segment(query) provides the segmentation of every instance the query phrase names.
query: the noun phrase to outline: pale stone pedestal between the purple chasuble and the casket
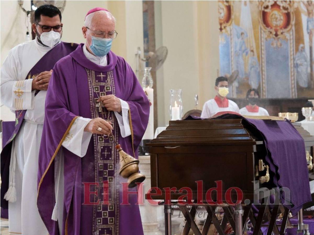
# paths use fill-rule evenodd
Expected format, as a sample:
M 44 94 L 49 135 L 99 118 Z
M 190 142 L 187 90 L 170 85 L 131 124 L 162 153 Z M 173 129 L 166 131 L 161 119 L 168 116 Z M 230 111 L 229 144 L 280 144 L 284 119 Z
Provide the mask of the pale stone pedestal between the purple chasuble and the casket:
M 143 192 L 146 194 L 147 191 L 151 188 L 150 184 L 150 156 L 138 156 L 139 159 L 139 170 L 141 174 L 146 176 L 143 185 Z M 145 197 L 145 195 L 143 195 Z M 152 206 L 148 201 L 144 200 L 145 205 L 140 205 L 139 209 L 141 212 L 142 224 L 144 235 L 161 235 L 161 232 L 158 230 L 158 217 L 157 217 L 157 207 Z

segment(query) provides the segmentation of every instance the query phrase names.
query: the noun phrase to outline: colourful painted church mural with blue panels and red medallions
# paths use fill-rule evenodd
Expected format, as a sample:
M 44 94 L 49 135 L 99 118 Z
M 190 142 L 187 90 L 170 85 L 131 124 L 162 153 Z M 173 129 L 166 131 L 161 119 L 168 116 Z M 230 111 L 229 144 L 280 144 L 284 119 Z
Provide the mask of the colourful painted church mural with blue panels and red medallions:
M 313 97 L 314 1 L 219 1 L 220 76 L 229 97 Z

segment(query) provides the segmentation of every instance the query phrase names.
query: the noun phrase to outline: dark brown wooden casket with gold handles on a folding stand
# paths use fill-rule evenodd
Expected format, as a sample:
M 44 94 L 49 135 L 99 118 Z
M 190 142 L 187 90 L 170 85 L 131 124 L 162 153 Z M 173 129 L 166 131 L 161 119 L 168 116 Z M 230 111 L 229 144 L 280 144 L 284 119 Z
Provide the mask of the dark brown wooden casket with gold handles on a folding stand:
M 217 188 L 216 181 L 222 182 L 222 195 L 232 188 L 240 188 L 243 200 L 254 200 L 254 191 L 260 187 L 276 187 L 272 172 L 269 171 L 267 179 L 262 137 L 245 123 L 241 118 L 170 121 L 166 130 L 148 144 L 151 186 L 161 190 L 159 194 L 151 194 L 151 198 L 167 199 L 165 189 L 168 188 L 173 189 L 168 199 L 178 200 L 187 194 L 179 190 L 188 187 L 192 190 L 192 199 L 197 200 L 200 185 L 196 181 L 202 181 L 203 198 L 208 189 Z M 314 137 L 299 123 L 294 125 L 313 156 Z M 311 178 L 313 170 L 309 174 Z M 236 192 L 232 192 L 236 197 Z M 211 196 L 215 200 L 217 191 Z

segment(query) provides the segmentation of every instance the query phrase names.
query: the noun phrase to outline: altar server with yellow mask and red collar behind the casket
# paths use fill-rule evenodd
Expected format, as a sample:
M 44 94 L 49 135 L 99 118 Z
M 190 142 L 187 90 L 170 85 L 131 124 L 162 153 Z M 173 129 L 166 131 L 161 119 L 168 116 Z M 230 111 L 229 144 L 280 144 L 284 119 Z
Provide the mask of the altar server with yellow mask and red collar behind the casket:
M 229 93 L 228 79 L 226 77 L 216 78 L 215 90 L 218 94 L 214 99 L 205 102 L 201 118 L 210 118 L 222 111 L 239 112 L 238 105 L 226 97 Z

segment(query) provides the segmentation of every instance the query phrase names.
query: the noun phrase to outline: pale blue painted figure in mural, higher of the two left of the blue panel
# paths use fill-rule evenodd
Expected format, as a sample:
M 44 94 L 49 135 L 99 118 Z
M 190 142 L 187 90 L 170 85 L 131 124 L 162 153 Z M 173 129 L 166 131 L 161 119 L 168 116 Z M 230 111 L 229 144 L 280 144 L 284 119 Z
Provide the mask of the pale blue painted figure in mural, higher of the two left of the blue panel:
M 244 60 L 243 55 L 248 54 L 248 49 L 246 48 L 245 44 L 245 33 L 242 31 L 240 37 L 237 35 L 238 42 L 236 44 L 236 51 L 235 51 L 235 67 L 236 70 L 239 70 L 238 82 L 242 81 L 245 77 L 245 70 L 244 70 Z M 238 85 L 237 85 L 238 86 Z

